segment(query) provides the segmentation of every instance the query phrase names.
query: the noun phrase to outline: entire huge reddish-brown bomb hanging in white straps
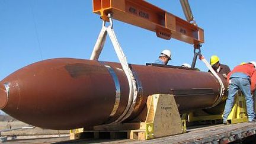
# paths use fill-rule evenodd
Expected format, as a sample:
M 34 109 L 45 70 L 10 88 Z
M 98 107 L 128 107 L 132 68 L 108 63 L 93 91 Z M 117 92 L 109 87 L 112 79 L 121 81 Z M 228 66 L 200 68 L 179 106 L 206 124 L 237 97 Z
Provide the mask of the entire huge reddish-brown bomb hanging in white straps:
M 143 121 L 152 94 L 174 94 L 180 113 L 219 103 L 220 84 L 208 72 L 130 65 L 138 95 L 126 121 Z M 222 79 L 225 87 L 226 80 Z M 49 59 L 25 66 L 0 82 L 0 108 L 25 123 L 47 129 L 108 124 L 124 112 L 129 84 L 120 63 Z

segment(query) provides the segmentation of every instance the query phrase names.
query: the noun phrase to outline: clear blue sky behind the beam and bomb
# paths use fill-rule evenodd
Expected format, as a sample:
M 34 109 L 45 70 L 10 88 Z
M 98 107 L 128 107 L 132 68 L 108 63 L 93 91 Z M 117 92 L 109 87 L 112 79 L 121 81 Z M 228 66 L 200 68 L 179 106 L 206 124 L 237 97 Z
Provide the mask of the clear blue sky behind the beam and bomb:
M 178 0 L 149 1 L 178 17 L 184 14 Z M 189 1 L 197 24 L 204 29 L 201 48 L 207 60 L 218 55 L 231 69 L 255 60 L 256 1 Z M 88 0 L 0 0 L 0 79 L 44 59 L 89 59 L 101 29 L 99 15 Z M 191 63 L 193 46 L 175 39 L 114 21 L 114 30 L 129 63 L 154 62 L 163 49 L 172 51 L 169 65 Z M 118 62 L 107 39 L 100 60 Z M 206 71 L 200 61 L 197 68 Z

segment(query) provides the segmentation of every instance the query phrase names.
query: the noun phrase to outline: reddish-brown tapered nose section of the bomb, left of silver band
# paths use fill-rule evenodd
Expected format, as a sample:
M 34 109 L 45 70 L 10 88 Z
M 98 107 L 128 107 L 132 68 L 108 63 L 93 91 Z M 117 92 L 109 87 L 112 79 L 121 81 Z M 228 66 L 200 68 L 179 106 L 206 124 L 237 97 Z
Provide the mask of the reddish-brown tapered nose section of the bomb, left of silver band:
M 46 129 L 103 124 L 110 119 L 115 98 L 113 78 L 97 61 L 44 60 L 0 81 L 0 109 Z

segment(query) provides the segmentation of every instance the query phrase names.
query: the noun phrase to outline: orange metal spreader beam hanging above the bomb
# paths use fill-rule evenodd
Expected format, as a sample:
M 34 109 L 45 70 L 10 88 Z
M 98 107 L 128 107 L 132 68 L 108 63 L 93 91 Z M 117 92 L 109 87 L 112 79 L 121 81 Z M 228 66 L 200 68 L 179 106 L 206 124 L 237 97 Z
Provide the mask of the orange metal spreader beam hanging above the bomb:
M 204 43 L 202 28 L 143 0 L 93 0 L 93 12 L 105 21 L 111 13 L 114 19 L 151 30 L 162 39 Z

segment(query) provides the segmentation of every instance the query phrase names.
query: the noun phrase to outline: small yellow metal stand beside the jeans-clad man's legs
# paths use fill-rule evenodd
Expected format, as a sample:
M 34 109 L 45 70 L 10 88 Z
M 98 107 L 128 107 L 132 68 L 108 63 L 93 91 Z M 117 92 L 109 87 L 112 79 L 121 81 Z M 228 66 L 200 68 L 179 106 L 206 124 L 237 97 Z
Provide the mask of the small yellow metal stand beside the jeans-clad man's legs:
M 228 116 L 227 124 L 242 123 L 248 121 L 245 97 L 242 92 L 238 92 L 231 113 Z

